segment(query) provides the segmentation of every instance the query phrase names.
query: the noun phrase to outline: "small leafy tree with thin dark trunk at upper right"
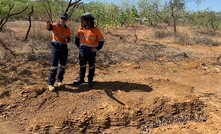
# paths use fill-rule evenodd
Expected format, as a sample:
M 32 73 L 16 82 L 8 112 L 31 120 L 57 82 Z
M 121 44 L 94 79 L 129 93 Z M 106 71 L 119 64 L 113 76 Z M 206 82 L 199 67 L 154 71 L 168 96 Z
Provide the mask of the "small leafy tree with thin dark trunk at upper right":
M 186 17 L 186 3 L 190 1 L 195 1 L 197 4 L 201 2 L 201 0 L 168 0 L 163 4 L 160 0 L 140 0 L 138 3 L 141 15 L 147 17 L 151 25 L 164 22 L 173 26 L 173 31 L 176 33 L 177 23 Z

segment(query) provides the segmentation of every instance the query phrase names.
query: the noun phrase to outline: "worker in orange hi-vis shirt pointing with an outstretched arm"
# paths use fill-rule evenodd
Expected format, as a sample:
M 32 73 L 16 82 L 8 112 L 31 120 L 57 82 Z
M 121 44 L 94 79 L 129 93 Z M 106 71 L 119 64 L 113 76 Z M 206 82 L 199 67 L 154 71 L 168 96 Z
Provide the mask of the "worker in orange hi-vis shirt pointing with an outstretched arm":
M 64 79 L 65 66 L 68 58 L 67 43 L 71 40 L 71 31 L 67 27 L 68 14 L 61 13 L 59 22 L 51 24 L 46 21 L 46 29 L 52 32 L 51 41 L 51 70 L 48 80 L 48 88 L 54 91 L 57 76 L 58 86 L 62 86 Z M 58 74 L 57 74 L 58 73 Z

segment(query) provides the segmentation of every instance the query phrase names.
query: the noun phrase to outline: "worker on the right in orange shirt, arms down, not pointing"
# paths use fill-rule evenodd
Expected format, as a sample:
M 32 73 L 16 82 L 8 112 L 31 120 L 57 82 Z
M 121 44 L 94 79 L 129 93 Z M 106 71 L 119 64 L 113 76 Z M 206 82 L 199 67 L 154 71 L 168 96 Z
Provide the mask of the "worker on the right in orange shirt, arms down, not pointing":
M 77 31 L 75 44 L 79 48 L 80 70 L 78 80 L 74 85 L 85 83 L 86 65 L 88 63 L 88 86 L 94 85 L 96 52 L 104 44 L 104 37 L 101 31 L 94 25 L 94 17 L 90 13 L 85 13 L 81 17 L 81 27 Z

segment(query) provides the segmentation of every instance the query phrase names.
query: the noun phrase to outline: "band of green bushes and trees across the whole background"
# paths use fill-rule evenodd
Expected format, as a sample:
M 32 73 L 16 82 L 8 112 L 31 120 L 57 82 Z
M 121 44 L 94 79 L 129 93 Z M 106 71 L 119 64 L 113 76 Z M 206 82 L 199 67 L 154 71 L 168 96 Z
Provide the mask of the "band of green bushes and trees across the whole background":
M 121 4 L 105 2 L 90 2 L 85 4 L 85 11 L 91 12 L 96 24 L 100 27 L 130 26 L 137 18 L 146 18 L 150 26 L 161 24 L 194 25 L 209 29 L 220 28 L 221 13 L 209 10 L 190 12 L 186 9 L 186 2 L 195 1 L 197 4 L 201 0 L 121 0 Z M 133 2 L 133 3 L 131 3 Z M 137 2 L 137 3 L 136 3 Z M 48 19 L 48 14 L 40 1 L 31 0 L 0 0 L 0 19 L 5 17 L 9 10 L 9 5 L 15 4 L 11 13 L 18 12 L 27 4 L 34 6 L 33 20 Z M 66 0 L 50 0 L 52 18 L 57 20 L 68 4 Z M 22 14 L 13 16 L 10 19 L 27 20 L 30 8 Z M 83 8 L 74 12 L 71 20 L 77 20 L 84 13 Z

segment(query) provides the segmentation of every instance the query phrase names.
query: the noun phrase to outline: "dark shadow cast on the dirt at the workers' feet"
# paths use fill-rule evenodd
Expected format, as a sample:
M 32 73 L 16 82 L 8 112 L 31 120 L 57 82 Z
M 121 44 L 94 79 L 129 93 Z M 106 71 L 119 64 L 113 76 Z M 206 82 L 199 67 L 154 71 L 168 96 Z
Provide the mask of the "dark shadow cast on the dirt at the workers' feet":
M 58 89 L 58 92 L 71 92 L 71 93 L 80 93 L 86 92 L 89 90 L 104 90 L 104 92 L 118 102 L 119 104 L 125 105 L 123 102 L 116 99 L 113 95 L 113 91 L 137 91 L 137 92 L 151 92 L 153 89 L 145 84 L 130 83 L 130 82 L 121 82 L 121 81 L 109 81 L 109 82 L 94 82 L 95 85 L 90 88 L 87 86 L 87 83 L 75 86 L 73 84 L 66 84 L 63 88 Z

